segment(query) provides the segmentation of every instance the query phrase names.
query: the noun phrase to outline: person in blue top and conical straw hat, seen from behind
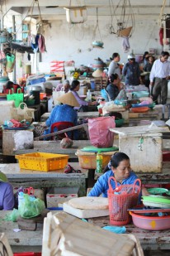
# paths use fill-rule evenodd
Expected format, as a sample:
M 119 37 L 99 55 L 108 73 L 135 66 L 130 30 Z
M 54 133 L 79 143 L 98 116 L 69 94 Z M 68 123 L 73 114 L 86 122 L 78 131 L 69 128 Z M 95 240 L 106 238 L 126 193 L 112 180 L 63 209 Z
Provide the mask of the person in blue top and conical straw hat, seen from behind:
M 78 101 L 75 99 L 71 92 L 62 95 L 57 99 L 61 104 L 56 105 L 52 110 L 50 117 L 46 120 L 45 126 L 48 129 L 45 130 L 45 134 L 51 133 L 51 125 L 56 122 L 71 122 L 74 126 L 78 125 L 78 114 L 74 107 L 78 107 Z M 77 137 L 76 135 L 74 137 Z M 76 138 L 74 138 L 76 139 Z

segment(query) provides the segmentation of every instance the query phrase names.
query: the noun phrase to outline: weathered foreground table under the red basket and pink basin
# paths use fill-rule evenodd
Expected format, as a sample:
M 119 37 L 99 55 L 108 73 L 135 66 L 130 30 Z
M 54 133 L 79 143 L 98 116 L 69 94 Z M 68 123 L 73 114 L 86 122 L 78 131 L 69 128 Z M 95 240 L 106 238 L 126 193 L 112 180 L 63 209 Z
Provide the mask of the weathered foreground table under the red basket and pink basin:
M 35 231 L 21 230 L 14 232 L 17 229 L 17 222 L 2 220 L 10 210 L 0 211 L 0 232 L 4 232 L 7 236 L 9 244 L 13 252 L 40 252 L 42 249 L 43 225 L 38 224 Z M 54 211 L 56 213 L 56 211 Z M 109 225 L 109 217 L 88 219 L 92 225 L 106 226 Z M 126 225 L 126 234 L 134 234 L 138 239 L 142 248 L 145 250 L 167 250 L 170 249 L 170 236 L 168 230 L 163 231 L 149 231 L 136 228 L 135 225 Z M 119 235 L 119 234 L 118 234 Z M 152 255 L 152 254 L 151 254 Z M 157 254 L 158 255 L 158 254 Z M 160 254 L 159 254 L 160 255 Z M 163 253 L 161 254 L 163 255 Z

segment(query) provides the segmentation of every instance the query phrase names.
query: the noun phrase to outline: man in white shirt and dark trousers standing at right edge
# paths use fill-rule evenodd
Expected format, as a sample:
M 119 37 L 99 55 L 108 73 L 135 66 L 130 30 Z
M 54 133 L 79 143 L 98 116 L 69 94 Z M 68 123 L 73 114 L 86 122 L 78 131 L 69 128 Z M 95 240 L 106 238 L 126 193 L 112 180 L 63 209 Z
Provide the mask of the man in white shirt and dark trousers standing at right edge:
M 162 51 L 160 59 L 155 60 L 150 72 L 150 85 L 152 86 L 153 101 L 158 104 L 158 96 L 161 104 L 166 104 L 168 97 L 168 79 L 170 78 L 170 61 L 168 51 Z

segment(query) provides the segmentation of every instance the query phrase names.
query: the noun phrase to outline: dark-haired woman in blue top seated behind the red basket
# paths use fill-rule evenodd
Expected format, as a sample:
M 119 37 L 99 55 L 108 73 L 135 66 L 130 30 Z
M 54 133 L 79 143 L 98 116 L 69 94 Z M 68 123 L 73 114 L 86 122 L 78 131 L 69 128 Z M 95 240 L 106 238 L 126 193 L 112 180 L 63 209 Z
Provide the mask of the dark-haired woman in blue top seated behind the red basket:
M 116 178 L 117 186 L 134 184 L 135 180 L 138 179 L 138 176 L 130 168 L 130 158 L 123 152 L 116 152 L 111 157 L 110 170 L 98 178 L 97 183 L 88 193 L 88 196 L 100 196 L 102 194 L 103 197 L 107 197 L 108 181 L 111 176 Z M 113 189 L 116 188 L 114 181 L 112 181 L 111 186 Z M 145 188 L 142 190 L 142 193 L 143 196 L 149 194 Z

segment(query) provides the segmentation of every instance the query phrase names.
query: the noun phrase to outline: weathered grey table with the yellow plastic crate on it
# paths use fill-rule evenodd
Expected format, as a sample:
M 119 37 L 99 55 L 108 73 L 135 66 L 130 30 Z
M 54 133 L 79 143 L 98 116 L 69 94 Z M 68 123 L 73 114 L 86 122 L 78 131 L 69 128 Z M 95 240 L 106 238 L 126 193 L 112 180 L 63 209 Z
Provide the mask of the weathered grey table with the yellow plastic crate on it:
M 71 166 L 81 169 L 78 162 L 72 162 Z M 8 181 L 13 187 L 47 188 L 47 187 L 78 187 L 79 196 L 85 196 L 87 190 L 87 169 L 81 169 L 82 173 L 64 173 L 57 171 L 32 171 L 20 170 L 18 163 L 0 164 L 0 171 L 7 175 Z

